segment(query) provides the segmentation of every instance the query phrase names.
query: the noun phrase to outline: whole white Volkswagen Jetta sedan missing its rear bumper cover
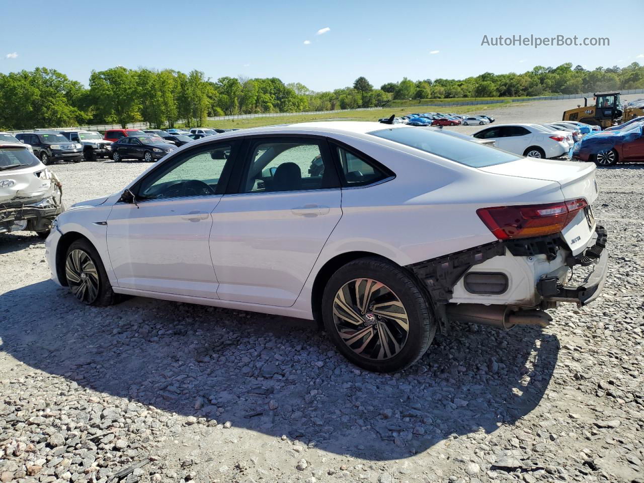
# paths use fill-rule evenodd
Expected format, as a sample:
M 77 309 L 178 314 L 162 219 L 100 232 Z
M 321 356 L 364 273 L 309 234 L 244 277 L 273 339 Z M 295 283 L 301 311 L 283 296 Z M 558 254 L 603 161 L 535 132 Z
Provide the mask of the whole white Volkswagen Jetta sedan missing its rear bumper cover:
M 545 326 L 545 309 L 596 298 L 594 169 L 404 124 L 245 129 L 74 205 L 47 258 L 83 303 L 129 294 L 317 319 L 350 361 L 388 372 L 450 321 Z M 583 285 L 567 285 L 574 265 L 592 265 Z

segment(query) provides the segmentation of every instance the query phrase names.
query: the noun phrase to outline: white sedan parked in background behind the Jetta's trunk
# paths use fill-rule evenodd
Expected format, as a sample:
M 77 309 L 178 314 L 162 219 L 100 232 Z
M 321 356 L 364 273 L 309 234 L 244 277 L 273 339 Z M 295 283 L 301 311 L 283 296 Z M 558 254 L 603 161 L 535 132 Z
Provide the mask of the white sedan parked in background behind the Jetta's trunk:
M 474 133 L 473 137 L 493 139 L 499 149 L 531 158 L 558 158 L 571 148 L 566 131 L 553 131 L 530 123 L 497 124 Z

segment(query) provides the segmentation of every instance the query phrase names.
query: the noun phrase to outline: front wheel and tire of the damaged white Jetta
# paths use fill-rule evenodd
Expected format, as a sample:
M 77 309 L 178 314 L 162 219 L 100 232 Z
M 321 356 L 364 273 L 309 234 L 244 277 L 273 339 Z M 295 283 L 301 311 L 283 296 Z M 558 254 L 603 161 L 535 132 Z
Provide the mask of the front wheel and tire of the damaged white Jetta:
M 67 249 L 65 275 L 71 294 L 82 303 L 100 307 L 117 302 L 99 253 L 88 240 L 76 240 Z

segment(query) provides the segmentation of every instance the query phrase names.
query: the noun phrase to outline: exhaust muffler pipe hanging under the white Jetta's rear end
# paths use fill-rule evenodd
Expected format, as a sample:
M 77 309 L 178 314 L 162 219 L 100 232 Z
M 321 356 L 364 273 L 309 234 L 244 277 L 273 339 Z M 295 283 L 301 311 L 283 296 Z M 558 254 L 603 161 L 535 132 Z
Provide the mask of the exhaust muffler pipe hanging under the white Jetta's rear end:
M 538 325 L 547 327 L 553 317 L 543 310 L 511 310 L 507 305 L 479 305 L 477 303 L 450 303 L 447 308 L 449 319 L 469 322 L 505 330 L 515 325 Z

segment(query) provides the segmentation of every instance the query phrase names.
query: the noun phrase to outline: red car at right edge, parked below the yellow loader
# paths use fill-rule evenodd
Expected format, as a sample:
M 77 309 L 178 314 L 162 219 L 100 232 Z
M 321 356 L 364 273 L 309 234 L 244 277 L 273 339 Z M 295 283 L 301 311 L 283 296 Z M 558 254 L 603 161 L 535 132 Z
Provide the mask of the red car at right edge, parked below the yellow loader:
M 623 131 L 622 131 L 623 132 Z M 634 163 L 644 162 L 644 135 L 630 140 L 628 142 L 611 142 L 612 135 L 619 135 L 620 131 L 602 131 L 597 135 L 600 138 L 600 143 L 605 140 L 604 146 L 600 143 L 594 143 L 599 147 L 592 149 L 588 141 L 591 138 L 583 138 L 582 142 L 575 145 L 573 151 L 573 159 L 579 161 L 591 161 L 598 166 L 612 166 L 615 163 Z M 594 138 L 598 140 L 598 138 Z M 579 147 L 577 147 L 579 146 Z

